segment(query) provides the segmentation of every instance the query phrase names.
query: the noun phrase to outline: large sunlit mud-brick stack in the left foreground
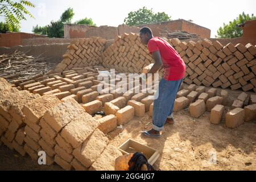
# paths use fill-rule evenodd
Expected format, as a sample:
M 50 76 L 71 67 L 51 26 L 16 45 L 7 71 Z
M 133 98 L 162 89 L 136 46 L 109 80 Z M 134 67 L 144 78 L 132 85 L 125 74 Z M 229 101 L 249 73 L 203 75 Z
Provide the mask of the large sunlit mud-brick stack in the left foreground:
M 19 91 L 2 78 L 0 92 L 0 137 L 11 150 L 33 160 L 44 151 L 48 165 L 66 170 L 114 170 L 122 154 L 105 137 L 111 115 L 97 121 L 73 98 Z

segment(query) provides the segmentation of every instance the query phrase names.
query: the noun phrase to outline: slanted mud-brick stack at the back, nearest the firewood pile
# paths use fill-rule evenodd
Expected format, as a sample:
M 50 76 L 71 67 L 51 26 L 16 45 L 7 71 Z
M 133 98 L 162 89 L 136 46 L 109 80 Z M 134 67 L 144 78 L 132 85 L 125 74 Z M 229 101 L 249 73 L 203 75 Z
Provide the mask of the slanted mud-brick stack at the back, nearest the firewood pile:
M 100 64 L 105 43 L 105 39 L 98 37 L 74 40 L 63 55 L 63 61 L 56 66 L 55 72 Z

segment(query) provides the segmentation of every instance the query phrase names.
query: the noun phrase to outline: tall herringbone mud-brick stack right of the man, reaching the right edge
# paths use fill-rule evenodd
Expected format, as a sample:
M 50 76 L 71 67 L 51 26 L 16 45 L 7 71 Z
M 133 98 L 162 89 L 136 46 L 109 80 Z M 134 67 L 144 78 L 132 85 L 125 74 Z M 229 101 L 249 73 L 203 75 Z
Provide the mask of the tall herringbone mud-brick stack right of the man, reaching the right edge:
M 256 47 L 252 44 L 243 46 L 208 39 L 180 42 L 171 39 L 171 45 L 179 52 L 187 64 L 185 82 L 204 86 L 242 89 L 256 92 Z

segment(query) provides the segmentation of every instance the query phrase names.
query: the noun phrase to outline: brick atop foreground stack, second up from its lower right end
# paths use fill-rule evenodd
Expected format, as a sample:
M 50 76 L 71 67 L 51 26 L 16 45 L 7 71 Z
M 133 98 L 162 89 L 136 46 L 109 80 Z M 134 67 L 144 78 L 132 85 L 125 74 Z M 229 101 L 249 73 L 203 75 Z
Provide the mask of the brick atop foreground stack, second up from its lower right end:
M 89 168 L 101 156 L 108 143 L 105 134 L 96 129 L 90 138 L 73 151 L 73 155 L 84 167 Z

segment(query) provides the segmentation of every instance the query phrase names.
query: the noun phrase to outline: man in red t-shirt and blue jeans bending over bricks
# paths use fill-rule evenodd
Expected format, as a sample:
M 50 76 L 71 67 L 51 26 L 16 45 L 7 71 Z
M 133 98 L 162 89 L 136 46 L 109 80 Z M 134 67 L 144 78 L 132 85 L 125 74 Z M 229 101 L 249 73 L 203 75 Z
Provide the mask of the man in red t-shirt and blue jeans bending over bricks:
M 179 53 L 164 39 L 154 37 L 148 27 L 139 31 L 141 42 L 148 47 L 148 51 L 155 60 L 155 64 L 148 73 L 154 74 L 163 66 L 164 76 L 159 82 L 158 98 L 154 100 L 153 128 L 143 131 L 144 137 L 160 137 L 165 123 L 174 123 L 172 111 L 177 92 L 185 76 L 186 66 Z M 148 74 L 147 73 L 147 74 Z M 145 80 L 145 78 L 142 78 Z

